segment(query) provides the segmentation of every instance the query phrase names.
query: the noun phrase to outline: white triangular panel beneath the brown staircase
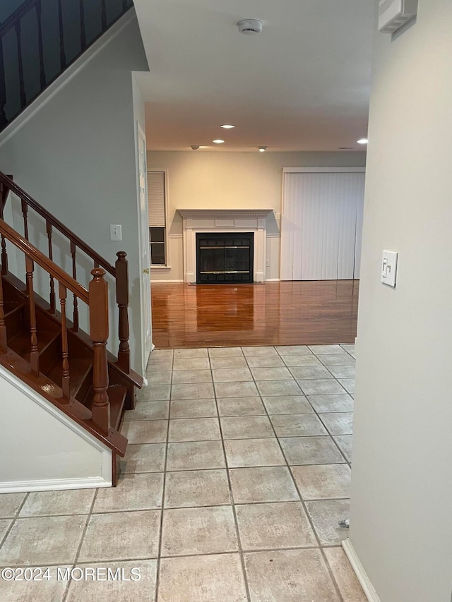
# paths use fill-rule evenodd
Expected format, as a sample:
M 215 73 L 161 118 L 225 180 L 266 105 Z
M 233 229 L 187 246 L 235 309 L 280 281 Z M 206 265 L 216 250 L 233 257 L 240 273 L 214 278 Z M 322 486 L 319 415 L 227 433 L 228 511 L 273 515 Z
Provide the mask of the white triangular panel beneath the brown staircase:
M 0 398 L 0 493 L 112 486 L 112 450 L 3 366 Z

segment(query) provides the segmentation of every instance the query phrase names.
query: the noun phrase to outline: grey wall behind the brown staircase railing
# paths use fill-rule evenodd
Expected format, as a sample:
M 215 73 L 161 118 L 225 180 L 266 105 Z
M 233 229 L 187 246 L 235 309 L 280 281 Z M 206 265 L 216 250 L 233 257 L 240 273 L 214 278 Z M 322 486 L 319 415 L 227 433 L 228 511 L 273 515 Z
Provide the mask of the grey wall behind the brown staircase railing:
M 147 63 L 141 36 L 132 13 L 128 13 L 107 37 L 97 43 L 97 54 L 79 59 L 81 66 L 52 95 L 38 100 L 32 114 L 18 131 L 0 137 L 0 169 L 13 174 L 16 182 L 61 219 L 78 236 L 114 264 L 117 251 L 129 258 L 131 361 L 141 372 L 140 270 L 138 249 L 138 200 L 135 152 L 135 121 L 143 121 L 142 100 L 133 94 L 132 70 L 145 70 Z M 109 42 L 105 44 L 105 40 Z M 35 108 L 37 107 L 37 108 Z M 15 126 L 11 126 L 15 127 Z M 8 201 L 9 203 L 10 201 Z M 31 220 L 31 229 L 47 248 L 42 224 Z M 21 229 L 20 212 L 14 224 Z M 121 224 L 123 240 L 109 241 L 109 224 Z M 30 237 L 32 242 L 36 238 Z M 71 270 L 66 241 L 55 236 L 55 258 Z M 66 260 L 62 259 L 66 256 Z M 81 258 L 81 254 L 79 253 Z M 78 275 L 88 284 L 92 265 L 82 259 Z M 19 276 L 20 260 L 18 260 Z M 85 272 L 83 274 L 83 272 Z M 85 278 L 85 282 L 83 282 Z M 37 277 L 42 289 L 48 285 Z M 110 342 L 117 352 L 117 309 L 114 287 L 109 280 Z M 138 291 L 138 292 L 137 292 Z M 46 291 L 47 293 L 47 291 Z M 47 294 L 46 294 L 47 296 Z M 81 305 L 83 305 L 81 303 Z

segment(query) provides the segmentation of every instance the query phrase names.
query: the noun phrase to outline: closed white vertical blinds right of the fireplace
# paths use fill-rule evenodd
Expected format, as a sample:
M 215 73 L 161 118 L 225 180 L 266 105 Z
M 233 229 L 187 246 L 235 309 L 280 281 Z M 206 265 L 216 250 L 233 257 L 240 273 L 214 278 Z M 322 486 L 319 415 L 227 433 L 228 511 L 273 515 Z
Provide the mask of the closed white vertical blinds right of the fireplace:
M 280 278 L 352 279 L 363 198 L 362 171 L 285 173 Z

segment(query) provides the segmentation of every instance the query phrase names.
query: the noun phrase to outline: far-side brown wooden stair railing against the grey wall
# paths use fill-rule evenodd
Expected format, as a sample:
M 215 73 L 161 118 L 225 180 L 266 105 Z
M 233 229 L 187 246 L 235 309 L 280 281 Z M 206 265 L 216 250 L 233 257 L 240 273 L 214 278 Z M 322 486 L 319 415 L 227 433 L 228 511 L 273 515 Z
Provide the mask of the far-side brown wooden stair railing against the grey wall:
M 130 347 L 129 347 L 129 265 L 125 251 L 118 251 L 115 265 L 111 265 L 99 253 L 86 244 L 68 227 L 59 221 L 52 213 L 44 209 L 40 203 L 28 195 L 12 179 L 12 176 L 6 176 L 0 171 L 0 219 L 4 219 L 4 207 L 9 192 L 14 193 L 20 199 L 24 238 L 28 241 L 28 210 L 31 208 L 45 220 L 49 260 L 53 261 L 52 231 L 57 229 L 63 236 L 69 240 L 69 249 L 72 258 L 72 277 L 74 282 L 77 280 L 77 250 L 83 251 L 88 258 L 93 260 L 94 268 L 102 267 L 115 280 L 116 301 L 118 306 L 118 366 L 126 374 L 131 371 L 130 368 Z M 6 244 L 4 234 L 1 234 L 1 265 L 4 274 L 8 271 L 8 255 L 6 253 Z M 92 272 L 93 273 L 93 272 Z M 72 291 L 73 292 L 73 291 Z M 78 331 L 78 299 L 81 297 L 73 292 L 73 330 Z M 54 275 L 49 271 L 49 303 L 50 311 L 55 312 L 55 287 Z M 108 336 L 107 336 L 108 338 Z

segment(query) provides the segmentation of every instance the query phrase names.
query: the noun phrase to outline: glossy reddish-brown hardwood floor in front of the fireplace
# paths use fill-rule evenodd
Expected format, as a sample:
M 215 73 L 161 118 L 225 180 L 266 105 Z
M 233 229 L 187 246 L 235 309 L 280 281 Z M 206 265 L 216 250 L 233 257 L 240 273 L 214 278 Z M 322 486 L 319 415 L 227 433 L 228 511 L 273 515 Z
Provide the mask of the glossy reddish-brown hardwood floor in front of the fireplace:
M 354 343 L 358 280 L 151 286 L 156 349 Z

